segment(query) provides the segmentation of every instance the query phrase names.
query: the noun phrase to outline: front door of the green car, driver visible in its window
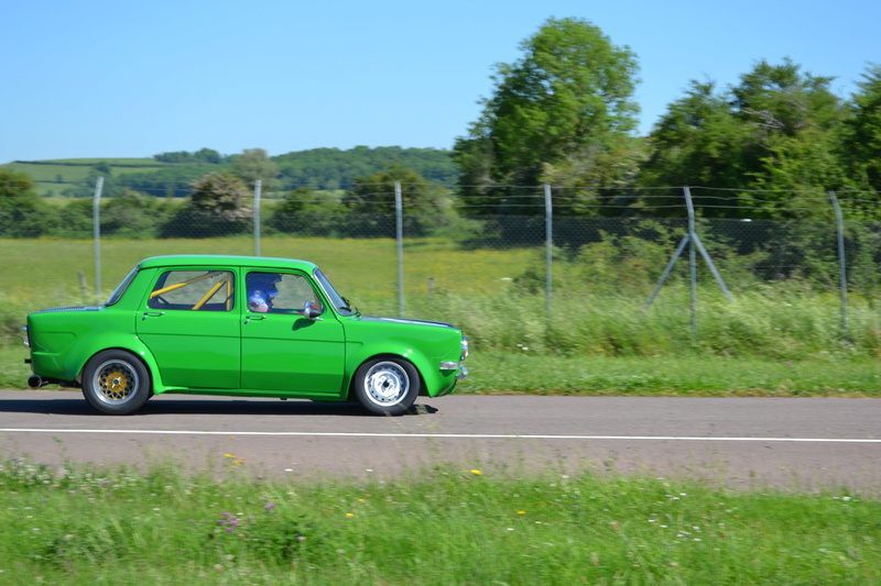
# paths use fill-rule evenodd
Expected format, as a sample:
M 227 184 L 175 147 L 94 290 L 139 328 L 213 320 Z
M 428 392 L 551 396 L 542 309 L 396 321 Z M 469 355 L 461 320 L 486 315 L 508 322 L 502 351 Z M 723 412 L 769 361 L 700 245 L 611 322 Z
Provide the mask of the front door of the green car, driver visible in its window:
M 241 386 L 304 396 L 342 391 L 342 324 L 308 276 L 252 270 L 246 276 L 248 307 L 241 328 Z M 320 318 L 304 316 L 311 303 Z

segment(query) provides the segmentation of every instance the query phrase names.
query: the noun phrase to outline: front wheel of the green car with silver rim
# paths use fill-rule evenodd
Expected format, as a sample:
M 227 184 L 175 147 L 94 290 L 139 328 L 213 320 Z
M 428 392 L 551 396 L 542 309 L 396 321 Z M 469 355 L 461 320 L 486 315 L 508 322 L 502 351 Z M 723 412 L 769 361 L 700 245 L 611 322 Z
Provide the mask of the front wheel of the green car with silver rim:
M 373 358 L 355 373 L 355 396 L 373 414 L 401 416 L 410 410 L 421 388 L 416 367 L 400 358 Z

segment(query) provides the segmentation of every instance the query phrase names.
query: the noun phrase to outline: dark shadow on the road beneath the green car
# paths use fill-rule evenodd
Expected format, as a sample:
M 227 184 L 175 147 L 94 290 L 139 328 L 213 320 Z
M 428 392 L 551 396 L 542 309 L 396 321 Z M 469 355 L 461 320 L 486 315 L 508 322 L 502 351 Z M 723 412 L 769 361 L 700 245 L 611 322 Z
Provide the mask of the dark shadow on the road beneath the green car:
M 315 402 L 308 400 L 268 400 L 268 399 L 181 399 L 178 397 L 153 397 L 137 413 L 131 416 L 107 416 L 93 409 L 85 399 L 8 399 L 0 400 L 0 412 L 7 413 L 42 413 L 54 416 L 93 416 L 119 419 L 130 417 L 149 417 L 157 414 L 218 414 L 218 416 L 337 416 L 337 417 L 377 417 L 365 411 L 358 403 L 351 402 Z M 437 409 L 429 405 L 414 405 L 407 416 L 436 413 Z

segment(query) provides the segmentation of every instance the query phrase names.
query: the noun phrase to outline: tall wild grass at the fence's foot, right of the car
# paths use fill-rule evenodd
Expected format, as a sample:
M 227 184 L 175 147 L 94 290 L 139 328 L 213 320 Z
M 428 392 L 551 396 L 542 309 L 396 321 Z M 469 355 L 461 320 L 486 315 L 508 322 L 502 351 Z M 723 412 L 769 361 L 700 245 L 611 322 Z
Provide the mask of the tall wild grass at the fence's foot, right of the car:
M 488 296 L 436 295 L 411 307 L 456 323 L 477 350 L 773 361 L 881 357 L 875 300 L 851 299 L 845 332 L 836 299 L 785 287 L 741 291 L 733 303 L 716 290 L 701 289 L 694 324 L 688 291 L 676 285 L 649 309 L 644 299 L 632 296 L 567 291 L 554 297 L 548 316 L 543 296 L 514 289 Z

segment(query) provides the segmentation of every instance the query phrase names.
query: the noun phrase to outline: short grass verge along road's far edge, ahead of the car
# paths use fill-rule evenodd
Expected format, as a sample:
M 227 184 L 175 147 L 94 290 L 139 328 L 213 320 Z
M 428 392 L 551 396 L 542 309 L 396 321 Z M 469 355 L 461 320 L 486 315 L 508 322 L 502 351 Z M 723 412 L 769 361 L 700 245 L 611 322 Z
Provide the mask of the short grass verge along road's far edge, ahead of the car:
M 459 394 L 634 397 L 881 397 L 877 358 L 602 357 L 476 353 Z

